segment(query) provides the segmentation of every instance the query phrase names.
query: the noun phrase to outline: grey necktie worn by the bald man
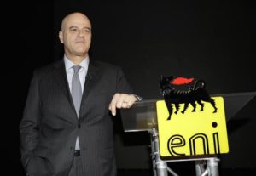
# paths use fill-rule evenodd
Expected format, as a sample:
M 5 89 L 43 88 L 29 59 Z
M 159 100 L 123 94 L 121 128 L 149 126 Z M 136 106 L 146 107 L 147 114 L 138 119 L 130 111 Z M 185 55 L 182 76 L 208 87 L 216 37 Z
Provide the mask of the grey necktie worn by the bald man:
M 81 99 L 82 99 L 82 87 L 81 87 L 81 82 L 79 80 L 80 68 L 81 68 L 80 65 L 73 66 L 72 90 L 71 90 L 73 105 L 75 106 L 78 116 L 79 116 L 79 110 L 80 110 Z

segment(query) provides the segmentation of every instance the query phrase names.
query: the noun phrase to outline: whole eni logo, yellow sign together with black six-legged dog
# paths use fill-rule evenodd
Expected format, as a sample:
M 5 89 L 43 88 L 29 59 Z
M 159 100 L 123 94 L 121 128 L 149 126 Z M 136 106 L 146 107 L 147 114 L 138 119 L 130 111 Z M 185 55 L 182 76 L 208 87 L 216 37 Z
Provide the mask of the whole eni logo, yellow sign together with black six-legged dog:
M 194 78 L 162 77 L 160 88 L 164 100 L 156 102 L 156 110 L 161 157 L 229 152 L 223 97 L 211 97 L 205 82 Z

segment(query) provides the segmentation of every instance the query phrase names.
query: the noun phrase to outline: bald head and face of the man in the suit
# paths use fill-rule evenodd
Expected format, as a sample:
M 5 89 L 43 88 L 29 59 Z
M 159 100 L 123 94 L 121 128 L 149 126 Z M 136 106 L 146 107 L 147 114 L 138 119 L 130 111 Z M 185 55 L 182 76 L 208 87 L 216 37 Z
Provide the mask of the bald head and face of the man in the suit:
M 87 56 L 91 43 L 90 20 L 84 14 L 70 14 L 62 22 L 59 37 L 67 56 Z

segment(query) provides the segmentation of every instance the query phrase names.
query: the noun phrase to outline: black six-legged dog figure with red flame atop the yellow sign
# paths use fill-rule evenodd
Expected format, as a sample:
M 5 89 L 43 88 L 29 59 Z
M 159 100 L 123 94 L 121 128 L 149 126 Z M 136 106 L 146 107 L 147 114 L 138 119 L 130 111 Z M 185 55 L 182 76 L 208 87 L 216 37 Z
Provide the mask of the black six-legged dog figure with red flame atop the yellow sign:
M 194 82 L 193 86 L 186 86 L 185 89 L 176 89 L 176 87 L 182 87 L 184 84 L 189 84 L 194 81 L 194 78 L 183 78 L 183 77 L 177 77 L 174 79 L 174 77 L 161 77 L 160 81 L 160 91 L 163 95 L 166 107 L 169 111 L 169 116 L 167 120 L 171 119 L 172 116 L 172 104 L 175 105 L 176 111 L 174 112 L 177 114 L 177 111 L 179 110 L 179 104 L 184 103 L 184 108 L 182 113 L 184 113 L 187 108 L 189 107 L 189 104 L 193 106 L 193 112 L 196 109 L 197 102 L 199 105 L 201 105 L 201 110 L 204 109 L 204 104 L 201 101 L 206 101 L 211 103 L 212 107 L 214 108 L 213 113 L 217 112 L 217 107 L 215 106 L 214 99 L 210 97 L 210 95 L 207 93 L 207 90 L 205 89 L 206 83 L 202 80 L 197 80 Z

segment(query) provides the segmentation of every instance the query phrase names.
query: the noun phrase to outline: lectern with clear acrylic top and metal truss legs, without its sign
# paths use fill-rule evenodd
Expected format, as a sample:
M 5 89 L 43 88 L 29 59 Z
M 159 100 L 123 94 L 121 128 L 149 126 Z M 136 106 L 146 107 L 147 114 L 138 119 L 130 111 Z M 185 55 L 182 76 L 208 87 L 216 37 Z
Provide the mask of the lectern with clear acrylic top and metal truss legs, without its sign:
M 211 97 L 224 99 L 225 120 L 228 122 L 247 103 L 256 96 L 256 92 L 235 94 L 211 94 Z M 218 176 L 218 155 L 199 155 L 182 157 L 160 156 L 160 136 L 156 103 L 162 99 L 146 99 L 137 102 L 130 109 L 121 109 L 121 117 L 125 132 L 147 131 L 151 140 L 151 156 L 154 176 L 178 174 L 167 166 L 167 162 L 195 162 L 196 176 Z M 172 130 L 172 129 L 170 129 Z

